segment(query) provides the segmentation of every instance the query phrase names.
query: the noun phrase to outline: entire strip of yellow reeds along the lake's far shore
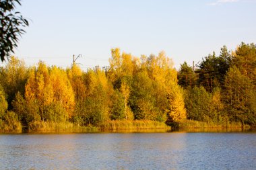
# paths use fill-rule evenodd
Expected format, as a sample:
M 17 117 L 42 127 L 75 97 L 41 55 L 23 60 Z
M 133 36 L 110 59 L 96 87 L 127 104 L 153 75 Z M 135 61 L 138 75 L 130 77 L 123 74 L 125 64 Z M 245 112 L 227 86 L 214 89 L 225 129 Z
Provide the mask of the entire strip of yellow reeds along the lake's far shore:
M 59 133 L 59 132 L 239 132 L 253 127 L 241 123 L 216 124 L 214 122 L 199 122 L 195 120 L 180 120 L 166 125 L 163 122 L 151 120 L 108 120 L 98 126 L 81 126 L 71 122 L 30 122 L 28 126 L 22 124 L 0 124 L 2 133 Z

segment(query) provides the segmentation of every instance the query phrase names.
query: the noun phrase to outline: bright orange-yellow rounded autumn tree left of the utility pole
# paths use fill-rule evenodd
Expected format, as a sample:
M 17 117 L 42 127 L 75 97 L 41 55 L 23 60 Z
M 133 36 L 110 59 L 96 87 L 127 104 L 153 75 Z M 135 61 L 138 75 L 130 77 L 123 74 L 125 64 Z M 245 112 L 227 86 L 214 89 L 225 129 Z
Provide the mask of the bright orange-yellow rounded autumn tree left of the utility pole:
M 43 62 L 30 71 L 26 83 L 26 102 L 38 105 L 42 121 L 63 122 L 73 116 L 75 98 L 67 73 Z

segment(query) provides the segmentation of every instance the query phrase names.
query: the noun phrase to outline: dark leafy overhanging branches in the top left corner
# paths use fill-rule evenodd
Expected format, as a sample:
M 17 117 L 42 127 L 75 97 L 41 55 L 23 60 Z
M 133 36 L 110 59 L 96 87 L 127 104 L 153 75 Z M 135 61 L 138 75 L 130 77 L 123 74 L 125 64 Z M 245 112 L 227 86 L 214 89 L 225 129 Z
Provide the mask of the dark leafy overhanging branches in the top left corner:
M 25 33 L 24 27 L 28 26 L 28 21 L 15 11 L 15 5 L 21 5 L 20 0 L 0 1 L 0 57 L 5 60 L 13 52 L 13 47 L 17 47 L 19 36 Z

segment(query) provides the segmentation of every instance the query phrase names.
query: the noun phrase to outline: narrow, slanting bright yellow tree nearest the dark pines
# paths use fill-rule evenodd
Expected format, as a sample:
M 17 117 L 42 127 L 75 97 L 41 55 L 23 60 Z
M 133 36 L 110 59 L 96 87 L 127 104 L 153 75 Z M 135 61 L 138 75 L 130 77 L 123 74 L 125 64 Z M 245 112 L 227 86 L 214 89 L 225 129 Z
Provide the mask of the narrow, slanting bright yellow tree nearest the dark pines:
M 173 67 L 172 60 L 164 52 L 160 52 L 156 57 L 156 64 L 152 68 L 152 73 L 156 73 L 153 79 L 156 82 L 159 94 L 161 94 L 160 91 L 164 91 L 164 96 L 156 97 L 158 99 L 157 103 L 159 105 L 164 104 L 161 109 L 168 115 L 168 120 L 185 119 L 186 110 L 184 108 L 183 92 L 178 85 L 177 71 Z

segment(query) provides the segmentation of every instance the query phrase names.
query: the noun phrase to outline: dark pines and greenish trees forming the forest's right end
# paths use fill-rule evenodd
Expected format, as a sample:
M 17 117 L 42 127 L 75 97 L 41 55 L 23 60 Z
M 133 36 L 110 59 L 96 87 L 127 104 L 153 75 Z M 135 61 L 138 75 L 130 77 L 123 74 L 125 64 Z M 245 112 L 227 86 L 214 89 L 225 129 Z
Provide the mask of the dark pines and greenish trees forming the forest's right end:
M 256 48 L 241 43 L 203 58 L 196 67 L 181 65 L 179 85 L 185 89 L 187 119 L 227 124 L 256 123 Z

